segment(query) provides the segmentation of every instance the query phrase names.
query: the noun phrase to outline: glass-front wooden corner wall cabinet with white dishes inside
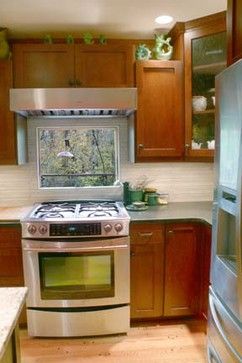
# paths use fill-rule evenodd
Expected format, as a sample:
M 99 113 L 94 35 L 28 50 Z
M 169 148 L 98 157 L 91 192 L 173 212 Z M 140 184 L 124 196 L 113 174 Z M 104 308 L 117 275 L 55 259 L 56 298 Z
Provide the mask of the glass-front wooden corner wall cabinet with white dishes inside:
M 185 50 L 186 157 L 208 161 L 215 148 L 215 76 L 227 61 L 223 19 L 187 30 Z

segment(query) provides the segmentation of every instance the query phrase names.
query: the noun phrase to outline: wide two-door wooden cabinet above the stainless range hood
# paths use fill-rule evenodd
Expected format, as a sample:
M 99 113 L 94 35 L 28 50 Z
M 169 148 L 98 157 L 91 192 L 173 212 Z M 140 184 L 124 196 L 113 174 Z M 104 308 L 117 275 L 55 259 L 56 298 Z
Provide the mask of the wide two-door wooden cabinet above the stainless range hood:
M 13 45 L 14 87 L 123 87 L 133 84 L 131 44 Z

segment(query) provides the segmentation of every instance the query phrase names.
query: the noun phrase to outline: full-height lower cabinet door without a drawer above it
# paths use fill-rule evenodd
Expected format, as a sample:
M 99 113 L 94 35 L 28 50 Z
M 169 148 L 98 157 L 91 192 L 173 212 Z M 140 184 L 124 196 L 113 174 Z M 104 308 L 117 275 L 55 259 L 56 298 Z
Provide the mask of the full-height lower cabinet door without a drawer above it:
M 197 312 L 200 262 L 196 226 L 166 226 L 164 316 Z

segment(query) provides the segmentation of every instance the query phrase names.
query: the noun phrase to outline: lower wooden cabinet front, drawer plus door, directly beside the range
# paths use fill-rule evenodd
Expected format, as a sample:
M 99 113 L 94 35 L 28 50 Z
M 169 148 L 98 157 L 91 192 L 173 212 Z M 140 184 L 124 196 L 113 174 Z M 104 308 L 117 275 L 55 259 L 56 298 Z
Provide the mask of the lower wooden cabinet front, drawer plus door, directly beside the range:
M 131 224 L 131 318 L 163 312 L 164 241 L 160 224 Z

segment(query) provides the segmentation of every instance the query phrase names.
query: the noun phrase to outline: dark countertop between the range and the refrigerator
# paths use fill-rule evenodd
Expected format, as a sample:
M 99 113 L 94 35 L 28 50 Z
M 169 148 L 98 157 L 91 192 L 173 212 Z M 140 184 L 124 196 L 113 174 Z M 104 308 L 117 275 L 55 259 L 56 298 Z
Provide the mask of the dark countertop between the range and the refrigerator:
M 212 202 L 176 202 L 149 206 L 146 211 L 128 211 L 134 221 L 202 221 L 212 225 Z

